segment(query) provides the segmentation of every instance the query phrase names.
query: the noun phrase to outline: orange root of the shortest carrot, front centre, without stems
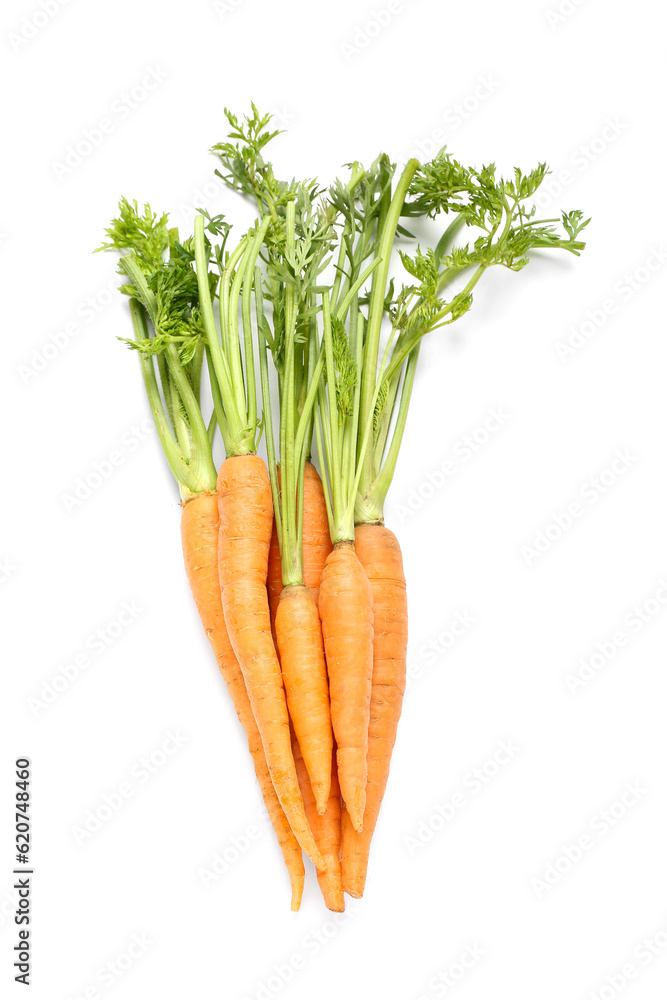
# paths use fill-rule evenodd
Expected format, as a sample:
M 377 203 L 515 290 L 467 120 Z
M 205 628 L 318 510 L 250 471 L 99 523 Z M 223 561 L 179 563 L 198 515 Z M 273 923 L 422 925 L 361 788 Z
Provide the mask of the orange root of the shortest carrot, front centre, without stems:
M 333 733 L 322 626 L 307 587 L 283 589 L 275 634 L 289 715 L 310 776 L 317 812 L 323 815 L 331 787 Z

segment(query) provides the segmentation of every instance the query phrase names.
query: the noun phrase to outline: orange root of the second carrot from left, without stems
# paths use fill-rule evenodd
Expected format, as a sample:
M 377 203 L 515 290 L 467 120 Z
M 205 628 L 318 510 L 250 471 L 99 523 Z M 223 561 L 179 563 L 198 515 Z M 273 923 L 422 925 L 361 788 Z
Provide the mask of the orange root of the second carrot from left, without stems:
M 232 647 L 246 683 L 273 786 L 301 848 L 324 868 L 308 825 L 292 756 L 280 664 L 271 636 L 266 578 L 273 506 L 257 455 L 225 459 L 218 473 L 218 572 Z

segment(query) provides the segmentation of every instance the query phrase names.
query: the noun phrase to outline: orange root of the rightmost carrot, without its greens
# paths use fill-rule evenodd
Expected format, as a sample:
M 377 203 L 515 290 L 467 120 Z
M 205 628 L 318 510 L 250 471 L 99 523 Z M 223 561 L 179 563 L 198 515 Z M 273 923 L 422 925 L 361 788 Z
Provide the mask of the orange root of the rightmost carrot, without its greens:
M 408 609 L 403 560 L 394 533 L 381 524 L 359 524 L 354 547 L 370 581 L 375 615 L 368 784 L 362 833 L 353 829 L 346 811 L 342 817 L 343 888 L 350 896 L 359 898 L 364 892 L 371 838 L 387 785 L 401 715 Z

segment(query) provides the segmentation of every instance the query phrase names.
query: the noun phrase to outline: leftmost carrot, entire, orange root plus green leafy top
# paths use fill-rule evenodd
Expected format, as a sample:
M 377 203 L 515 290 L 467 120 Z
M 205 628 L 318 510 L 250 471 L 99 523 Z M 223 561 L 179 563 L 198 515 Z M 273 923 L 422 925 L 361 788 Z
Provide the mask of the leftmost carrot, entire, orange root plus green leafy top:
M 139 216 L 136 203 L 130 204 L 123 199 L 120 216 L 113 221 L 107 235 L 110 238 L 108 248 L 132 250 L 120 262 L 120 269 L 130 282 L 126 290 L 131 296 L 132 344 L 141 360 L 158 437 L 181 495 L 181 538 L 186 572 L 202 624 L 248 738 L 255 773 L 290 874 L 292 907 L 298 909 L 303 891 L 303 860 L 270 779 L 247 689 L 229 642 L 221 601 L 217 558 L 219 515 L 215 496 L 217 473 L 211 451 L 211 428 L 215 425 L 207 427 L 201 413 L 203 348 L 199 325 L 191 324 L 193 312 L 201 305 L 198 291 L 202 284 L 209 296 L 210 318 L 208 272 L 204 267 L 206 278 L 202 274 L 200 281 L 189 260 L 172 253 L 178 243 L 178 230 L 170 229 L 167 216 L 158 217 L 148 205 L 143 216 Z M 248 253 L 258 249 L 258 240 L 259 235 L 250 244 Z M 241 247 L 247 246 L 246 239 Z M 166 253 L 169 253 L 168 260 L 165 260 Z M 155 278 L 152 287 L 151 278 Z M 175 294 L 176 289 L 178 294 Z M 149 319 L 154 334 L 151 334 Z M 192 336 L 183 356 L 173 338 L 158 339 L 166 330 L 176 328 L 180 332 L 181 347 L 188 336 Z M 238 417 L 237 424 L 241 422 Z M 248 422 L 251 421 L 245 421 Z M 245 434 L 243 428 L 240 434 Z M 230 440 L 227 428 L 223 437 L 225 443 Z M 296 774 L 295 785 L 298 793 Z

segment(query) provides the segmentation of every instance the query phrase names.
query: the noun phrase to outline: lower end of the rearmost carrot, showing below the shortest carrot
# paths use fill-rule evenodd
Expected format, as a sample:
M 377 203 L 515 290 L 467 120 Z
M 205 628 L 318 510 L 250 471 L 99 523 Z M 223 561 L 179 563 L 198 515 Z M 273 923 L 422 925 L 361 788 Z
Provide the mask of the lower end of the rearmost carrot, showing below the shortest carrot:
M 318 813 L 315 805 L 315 797 L 310 787 L 308 772 L 296 737 L 292 739 L 292 753 L 294 754 L 296 773 L 299 776 L 301 794 L 303 795 L 306 807 L 306 816 L 313 829 L 317 846 L 327 863 L 327 870 L 317 873 L 317 881 L 327 909 L 333 910 L 335 913 L 342 913 L 345 909 L 345 897 L 343 895 L 343 878 L 340 863 L 341 808 L 340 788 L 336 775 L 336 759 L 332 754 L 331 794 L 327 803 L 326 813 L 322 816 Z

